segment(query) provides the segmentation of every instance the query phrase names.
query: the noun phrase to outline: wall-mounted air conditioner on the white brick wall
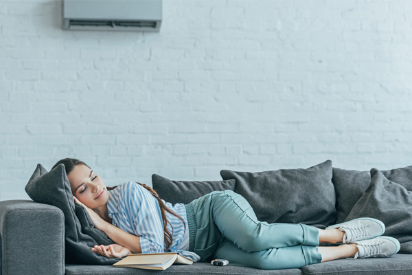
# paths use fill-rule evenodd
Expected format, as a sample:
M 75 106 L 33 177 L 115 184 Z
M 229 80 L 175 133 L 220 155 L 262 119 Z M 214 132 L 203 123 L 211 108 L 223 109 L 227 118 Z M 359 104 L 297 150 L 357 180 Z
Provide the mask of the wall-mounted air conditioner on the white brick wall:
M 64 0 L 64 30 L 159 31 L 162 0 Z

